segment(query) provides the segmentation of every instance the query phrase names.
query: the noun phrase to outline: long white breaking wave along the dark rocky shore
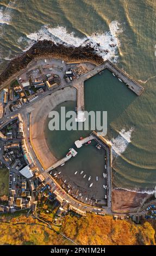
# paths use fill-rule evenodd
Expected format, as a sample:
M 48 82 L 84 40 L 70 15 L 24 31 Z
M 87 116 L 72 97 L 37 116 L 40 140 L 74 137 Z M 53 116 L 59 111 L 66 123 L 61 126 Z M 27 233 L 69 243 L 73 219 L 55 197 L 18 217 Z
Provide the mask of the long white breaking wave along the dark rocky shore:
M 38 40 L 52 40 L 57 43 L 64 43 L 66 46 L 78 47 L 90 45 L 95 49 L 95 52 L 102 56 L 104 60 L 110 59 L 113 62 L 117 62 L 118 58 L 118 46 L 120 41 L 117 39 L 117 35 L 122 33 L 121 25 L 117 21 L 113 21 L 109 25 L 110 30 L 103 33 L 92 33 L 90 36 L 84 35 L 82 38 L 76 36 L 74 32 L 68 33 L 65 27 L 51 28 L 48 25 L 43 26 L 38 32 L 30 33 L 27 35 L 28 50 L 34 42 Z M 18 39 L 21 42 L 21 38 Z M 23 40 L 25 40 L 23 38 Z

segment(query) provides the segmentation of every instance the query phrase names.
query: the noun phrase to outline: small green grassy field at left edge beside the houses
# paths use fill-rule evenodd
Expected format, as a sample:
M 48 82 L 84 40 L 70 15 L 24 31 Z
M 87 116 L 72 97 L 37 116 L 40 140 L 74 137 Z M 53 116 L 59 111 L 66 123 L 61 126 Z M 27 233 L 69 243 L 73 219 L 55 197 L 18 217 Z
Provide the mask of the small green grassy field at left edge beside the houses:
M 0 169 L 0 197 L 8 196 L 9 190 L 9 170 Z

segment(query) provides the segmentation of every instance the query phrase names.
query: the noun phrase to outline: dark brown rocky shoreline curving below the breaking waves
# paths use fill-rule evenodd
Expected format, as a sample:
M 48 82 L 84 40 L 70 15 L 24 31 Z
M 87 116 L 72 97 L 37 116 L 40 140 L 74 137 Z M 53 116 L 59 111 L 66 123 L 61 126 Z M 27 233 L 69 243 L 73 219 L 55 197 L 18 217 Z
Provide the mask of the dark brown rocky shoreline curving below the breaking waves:
M 90 46 L 74 47 L 55 44 L 53 41 L 48 40 L 38 41 L 27 52 L 10 61 L 7 68 L 0 75 L 0 85 L 16 74 L 16 72 L 26 68 L 33 59 L 41 56 L 64 59 L 66 62 L 78 60 L 95 64 L 103 62 L 103 58 L 98 56 L 94 48 Z

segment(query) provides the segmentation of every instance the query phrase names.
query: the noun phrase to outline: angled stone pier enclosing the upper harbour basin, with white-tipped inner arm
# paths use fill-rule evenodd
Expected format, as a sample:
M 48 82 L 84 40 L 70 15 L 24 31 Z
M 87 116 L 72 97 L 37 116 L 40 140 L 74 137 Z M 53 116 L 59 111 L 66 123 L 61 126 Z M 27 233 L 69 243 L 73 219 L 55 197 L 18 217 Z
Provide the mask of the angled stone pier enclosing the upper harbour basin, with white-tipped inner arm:
M 108 69 L 111 71 L 118 79 L 121 80 L 130 90 L 132 90 L 136 95 L 141 95 L 144 88 L 133 78 L 130 78 L 126 72 L 118 68 L 115 64 L 111 63 L 109 60 L 105 60 L 104 63 L 96 66 L 92 70 L 86 72 L 76 81 L 72 82 L 72 86 L 77 89 L 77 122 L 85 121 L 84 114 L 84 82 L 95 76 L 96 74 L 100 74 L 104 69 Z

